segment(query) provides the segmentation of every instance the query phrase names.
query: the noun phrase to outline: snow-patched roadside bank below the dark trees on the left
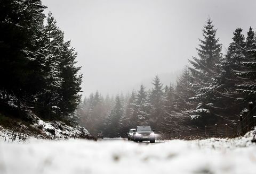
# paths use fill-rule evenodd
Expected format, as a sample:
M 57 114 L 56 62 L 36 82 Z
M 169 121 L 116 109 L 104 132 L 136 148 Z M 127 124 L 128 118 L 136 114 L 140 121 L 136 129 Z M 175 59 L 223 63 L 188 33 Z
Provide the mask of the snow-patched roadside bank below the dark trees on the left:
M 25 142 L 34 139 L 66 140 L 69 138 L 89 138 L 89 132 L 81 126 L 68 126 L 62 121 L 43 121 L 34 116 L 34 123 L 26 126 L 17 123 L 17 127 L 7 129 L 0 126 L 0 141 Z M 33 131 L 31 131 L 31 128 Z

